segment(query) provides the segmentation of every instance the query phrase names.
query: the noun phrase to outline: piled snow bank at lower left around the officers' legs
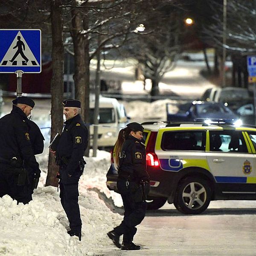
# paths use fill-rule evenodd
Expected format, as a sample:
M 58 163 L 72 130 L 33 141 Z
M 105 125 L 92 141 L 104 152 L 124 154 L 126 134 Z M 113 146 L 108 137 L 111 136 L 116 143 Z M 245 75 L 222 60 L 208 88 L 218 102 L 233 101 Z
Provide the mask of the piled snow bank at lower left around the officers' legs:
M 57 188 L 43 186 L 47 168 L 44 154 L 38 157 L 42 173 L 33 201 L 17 205 L 7 195 L 0 198 L 0 255 L 79 256 L 113 247 L 106 233 L 120 223 L 122 216 L 114 212 L 111 195 L 117 205 L 122 203 L 120 196 L 106 187 L 110 153 L 98 151 L 98 157 L 85 160 L 87 165 L 79 182 L 82 241 L 67 234 L 68 221 Z

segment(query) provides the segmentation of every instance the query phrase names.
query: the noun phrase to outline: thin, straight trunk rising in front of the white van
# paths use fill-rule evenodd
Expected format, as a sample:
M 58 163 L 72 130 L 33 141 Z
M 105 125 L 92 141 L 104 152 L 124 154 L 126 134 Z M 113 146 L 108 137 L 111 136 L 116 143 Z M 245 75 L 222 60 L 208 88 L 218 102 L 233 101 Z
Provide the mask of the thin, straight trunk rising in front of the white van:
M 84 16 L 83 22 L 84 30 L 89 28 L 89 17 L 88 15 Z M 89 39 L 88 35 L 84 35 L 84 62 L 85 62 L 85 88 L 84 88 L 84 104 L 85 104 L 85 111 L 84 111 L 84 121 L 88 128 L 89 138 L 90 138 L 90 55 L 89 55 Z M 85 156 L 89 156 L 90 150 L 90 139 L 88 140 L 88 147 L 85 150 Z

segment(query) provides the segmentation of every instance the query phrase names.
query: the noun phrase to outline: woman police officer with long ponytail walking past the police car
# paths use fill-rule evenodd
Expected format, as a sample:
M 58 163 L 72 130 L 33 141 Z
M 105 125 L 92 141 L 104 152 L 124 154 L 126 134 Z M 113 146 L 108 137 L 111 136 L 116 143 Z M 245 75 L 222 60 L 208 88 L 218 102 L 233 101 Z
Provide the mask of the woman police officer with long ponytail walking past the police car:
M 143 126 L 131 122 L 119 132 L 116 141 L 118 165 L 117 188 L 125 209 L 122 223 L 108 232 L 108 237 L 122 250 L 140 250 L 133 238 L 136 226 L 143 221 L 146 212 L 146 195 L 149 192 L 149 175 L 146 172 L 145 145 L 142 143 Z M 122 245 L 119 237 L 123 235 Z

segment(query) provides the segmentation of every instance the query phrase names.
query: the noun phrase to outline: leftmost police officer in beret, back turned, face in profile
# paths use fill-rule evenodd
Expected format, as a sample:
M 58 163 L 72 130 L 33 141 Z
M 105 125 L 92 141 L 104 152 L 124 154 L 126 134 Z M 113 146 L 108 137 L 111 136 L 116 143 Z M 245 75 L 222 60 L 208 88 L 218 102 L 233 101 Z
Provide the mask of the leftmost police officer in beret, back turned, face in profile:
M 0 119 L 0 197 L 9 195 L 17 204 L 32 200 L 27 190 L 29 177 L 39 179 L 41 172 L 27 125 L 27 116 L 34 106 L 32 99 L 18 97 L 11 113 Z

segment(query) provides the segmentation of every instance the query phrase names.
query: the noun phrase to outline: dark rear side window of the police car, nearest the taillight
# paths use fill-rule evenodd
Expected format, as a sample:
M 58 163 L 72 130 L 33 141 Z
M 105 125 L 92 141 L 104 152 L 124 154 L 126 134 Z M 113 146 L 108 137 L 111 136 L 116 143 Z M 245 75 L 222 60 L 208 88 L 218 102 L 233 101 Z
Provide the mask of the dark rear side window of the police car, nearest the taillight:
M 204 131 L 168 131 L 163 133 L 161 148 L 163 150 L 193 150 L 205 149 Z

